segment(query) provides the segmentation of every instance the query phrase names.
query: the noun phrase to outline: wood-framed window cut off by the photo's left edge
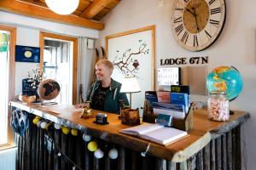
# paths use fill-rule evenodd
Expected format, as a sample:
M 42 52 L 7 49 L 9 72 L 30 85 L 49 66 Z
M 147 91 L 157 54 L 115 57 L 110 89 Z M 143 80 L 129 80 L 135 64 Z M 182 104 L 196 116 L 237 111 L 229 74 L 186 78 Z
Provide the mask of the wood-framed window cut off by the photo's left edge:
M 14 27 L 0 25 L 0 150 L 14 144 L 14 134 L 9 127 L 8 105 L 15 95 L 15 37 Z

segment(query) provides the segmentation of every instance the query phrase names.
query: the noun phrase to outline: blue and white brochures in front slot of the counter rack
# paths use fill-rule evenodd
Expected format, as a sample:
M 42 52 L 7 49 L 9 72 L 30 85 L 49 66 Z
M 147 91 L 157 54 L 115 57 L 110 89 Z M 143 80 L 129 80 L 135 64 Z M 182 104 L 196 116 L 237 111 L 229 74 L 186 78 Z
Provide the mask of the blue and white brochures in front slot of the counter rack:
M 153 102 L 152 107 L 155 115 L 171 115 L 177 119 L 183 119 L 186 116 L 184 105 Z

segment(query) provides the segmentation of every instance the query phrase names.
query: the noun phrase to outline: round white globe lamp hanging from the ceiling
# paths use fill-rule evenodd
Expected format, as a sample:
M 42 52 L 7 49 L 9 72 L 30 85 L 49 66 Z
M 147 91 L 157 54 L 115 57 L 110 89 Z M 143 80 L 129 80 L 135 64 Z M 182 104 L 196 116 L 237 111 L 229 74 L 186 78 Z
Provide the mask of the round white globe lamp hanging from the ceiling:
M 79 0 L 45 0 L 45 3 L 56 14 L 72 14 L 79 6 Z

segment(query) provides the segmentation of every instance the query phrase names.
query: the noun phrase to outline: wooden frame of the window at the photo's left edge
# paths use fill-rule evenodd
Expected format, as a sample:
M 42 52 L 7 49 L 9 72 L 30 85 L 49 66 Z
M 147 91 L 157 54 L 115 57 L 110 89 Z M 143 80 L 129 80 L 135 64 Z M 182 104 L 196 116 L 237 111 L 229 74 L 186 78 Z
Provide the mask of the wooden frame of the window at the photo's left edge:
M 16 27 L 0 25 L 0 30 L 9 31 L 9 95 L 8 103 L 15 97 L 15 45 L 16 45 Z M 8 122 L 10 122 L 11 107 L 8 107 Z M 14 131 L 8 123 L 7 126 L 7 144 L 1 144 L 0 150 L 6 150 L 15 146 Z

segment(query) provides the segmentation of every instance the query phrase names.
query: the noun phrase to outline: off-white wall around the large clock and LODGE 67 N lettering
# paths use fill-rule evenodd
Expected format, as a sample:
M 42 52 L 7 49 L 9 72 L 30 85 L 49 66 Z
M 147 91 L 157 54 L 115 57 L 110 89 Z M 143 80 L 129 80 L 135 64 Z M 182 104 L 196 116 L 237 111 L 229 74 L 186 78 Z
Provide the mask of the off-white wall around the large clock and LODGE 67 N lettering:
M 247 169 L 256 167 L 256 1 L 226 0 L 227 17 L 224 30 L 214 44 L 201 52 L 189 52 L 177 45 L 172 36 L 171 10 L 173 0 L 165 0 L 158 6 L 158 0 L 121 1 L 103 20 L 106 27 L 100 31 L 97 46 L 104 47 L 105 37 L 121 31 L 144 26 L 156 26 L 156 67 L 165 57 L 209 56 L 208 70 L 220 65 L 234 65 L 241 72 L 244 88 L 240 96 L 230 103 L 233 110 L 248 111 L 251 118 L 241 136 L 246 136 Z M 243 150 L 244 152 L 246 150 Z

